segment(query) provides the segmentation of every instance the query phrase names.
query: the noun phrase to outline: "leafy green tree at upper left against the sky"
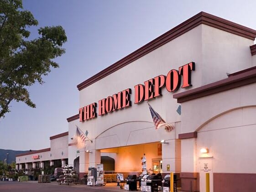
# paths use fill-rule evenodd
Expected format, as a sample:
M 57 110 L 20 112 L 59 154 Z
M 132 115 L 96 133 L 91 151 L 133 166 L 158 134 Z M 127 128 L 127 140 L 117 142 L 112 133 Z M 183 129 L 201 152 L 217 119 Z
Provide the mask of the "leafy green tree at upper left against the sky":
M 42 77 L 59 67 L 53 59 L 61 56 L 67 41 L 62 26 L 38 29 L 39 37 L 28 40 L 29 26 L 38 22 L 21 0 L 0 0 L 0 119 L 10 112 L 11 101 L 35 108 L 27 88 L 44 83 Z

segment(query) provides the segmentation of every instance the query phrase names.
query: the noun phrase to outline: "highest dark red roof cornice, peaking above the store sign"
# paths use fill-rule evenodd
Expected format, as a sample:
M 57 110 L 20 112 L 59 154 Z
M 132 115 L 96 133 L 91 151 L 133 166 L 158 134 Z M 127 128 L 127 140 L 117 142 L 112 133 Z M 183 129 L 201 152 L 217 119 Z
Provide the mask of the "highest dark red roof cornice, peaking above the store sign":
M 246 37 L 251 40 L 255 40 L 255 37 L 256 37 L 256 31 L 253 29 L 250 29 L 245 26 L 241 26 L 234 22 L 222 19 L 217 16 L 210 15 L 205 12 L 200 12 L 199 14 L 191 17 L 187 21 L 184 21 L 180 25 L 174 27 L 170 31 L 167 31 L 163 35 L 157 37 L 152 42 L 149 42 L 145 46 L 136 50 L 135 52 L 132 52 L 130 55 L 122 58 L 120 61 L 115 62 L 114 64 L 105 68 L 101 72 L 95 74 L 91 78 L 78 84 L 78 86 L 77 86 L 78 90 L 80 91 L 83 88 L 88 87 L 89 85 L 99 81 L 100 79 L 102 79 L 102 78 L 108 76 L 109 74 L 117 71 L 118 69 L 128 65 L 129 63 L 137 60 L 138 58 L 146 55 L 147 53 L 152 52 L 153 50 L 157 49 L 158 47 L 161 47 L 162 45 L 166 44 L 167 42 L 172 41 L 173 39 L 177 38 L 178 36 L 181 36 L 182 34 L 186 33 L 187 31 L 190 31 L 191 29 L 193 29 L 194 27 L 196 27 L 200 24 L 212 26 L 212 27 L 218 28 L 220 30 L 233 33 L 235 35 Z

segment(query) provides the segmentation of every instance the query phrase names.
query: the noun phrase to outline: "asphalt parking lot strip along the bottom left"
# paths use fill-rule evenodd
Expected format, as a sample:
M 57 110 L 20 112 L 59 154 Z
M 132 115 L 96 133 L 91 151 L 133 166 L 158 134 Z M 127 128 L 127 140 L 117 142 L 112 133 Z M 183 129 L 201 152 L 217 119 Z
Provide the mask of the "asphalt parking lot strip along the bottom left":
M 0 192 L 125 192 L 116 186 L 116 183 L 108 183 L 103 187 L 89 187 L 86 185 L 58 185 L 57 182 L 38 183 L 29 182 L 0 182 Z

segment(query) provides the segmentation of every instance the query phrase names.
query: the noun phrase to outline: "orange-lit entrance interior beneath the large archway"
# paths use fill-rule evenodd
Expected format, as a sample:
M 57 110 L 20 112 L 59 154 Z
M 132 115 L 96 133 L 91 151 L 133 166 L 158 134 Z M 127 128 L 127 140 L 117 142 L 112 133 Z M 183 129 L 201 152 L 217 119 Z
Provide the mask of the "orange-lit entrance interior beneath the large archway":
M 102 149 L 100 152 L 101 156 L 115 160 L 114 172 L 139 175 L 142 171 L 141 157 L 145 154 L 148 173 L 162 173 L 162 144 L 159 142 Z

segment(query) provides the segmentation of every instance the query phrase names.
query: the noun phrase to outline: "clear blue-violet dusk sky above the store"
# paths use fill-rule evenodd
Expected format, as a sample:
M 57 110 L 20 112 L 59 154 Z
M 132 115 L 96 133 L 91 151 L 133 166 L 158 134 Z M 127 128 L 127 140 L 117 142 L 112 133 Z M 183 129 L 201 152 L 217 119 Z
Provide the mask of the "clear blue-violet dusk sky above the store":
M 200 11 L 256 29 L 256 1 L 236 0 L 23 0 L 39 21 L 61 25 L 68 42 L 60 68 L 29 88 L 36 109 L 12 102 L 0 121 L 0 149 L 39 150 L 68 131 L 78 114 L 77 85 Z

